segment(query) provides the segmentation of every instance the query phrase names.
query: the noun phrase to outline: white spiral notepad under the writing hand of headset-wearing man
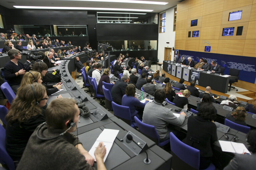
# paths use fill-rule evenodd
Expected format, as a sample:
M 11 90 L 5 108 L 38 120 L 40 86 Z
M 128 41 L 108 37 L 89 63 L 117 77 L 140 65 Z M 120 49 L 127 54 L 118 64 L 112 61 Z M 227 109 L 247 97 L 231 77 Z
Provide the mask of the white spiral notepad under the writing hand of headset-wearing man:
M 103 142 L 103 144 L 106 147 L 106 155 L 104 156 L 103 161 L 105 162 L 107 155 L 114 143 L 115 137 L 117 136 L 119 130 L 114 130 L 114 129 L 104 129 L 99 137 L 96 139 L 96 141 L 94 142 L 94 144 L 92 145 L 91 149 L 89 150 L 89 154 L 95 159 L 95 155 L 94 155 L 94 151 L 96 149 L 96 147 L 99 145 L 99 142 Z

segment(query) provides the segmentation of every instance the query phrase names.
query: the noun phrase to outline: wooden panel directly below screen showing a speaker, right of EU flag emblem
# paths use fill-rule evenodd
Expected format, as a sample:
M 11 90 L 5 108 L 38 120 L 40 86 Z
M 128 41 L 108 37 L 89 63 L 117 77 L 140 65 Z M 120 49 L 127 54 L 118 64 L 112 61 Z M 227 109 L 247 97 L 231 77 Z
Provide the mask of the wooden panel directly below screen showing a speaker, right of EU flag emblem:
M 229 55 L 243 55 L 245 40 L 219 40 L 217 53 Z

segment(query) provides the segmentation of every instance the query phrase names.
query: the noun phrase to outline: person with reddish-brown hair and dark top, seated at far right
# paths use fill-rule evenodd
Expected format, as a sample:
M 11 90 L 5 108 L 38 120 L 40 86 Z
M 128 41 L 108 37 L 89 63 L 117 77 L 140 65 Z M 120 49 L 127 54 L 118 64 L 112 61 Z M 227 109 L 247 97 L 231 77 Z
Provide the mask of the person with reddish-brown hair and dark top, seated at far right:
M 246 110 L 244 109 L 244 107 L 237 107 L 232 114 L 226 115 L 226 119 L 229 119 L 230 121 L 237 124 L 247 126 L 247 124 L 245 123 L 246 116 Z

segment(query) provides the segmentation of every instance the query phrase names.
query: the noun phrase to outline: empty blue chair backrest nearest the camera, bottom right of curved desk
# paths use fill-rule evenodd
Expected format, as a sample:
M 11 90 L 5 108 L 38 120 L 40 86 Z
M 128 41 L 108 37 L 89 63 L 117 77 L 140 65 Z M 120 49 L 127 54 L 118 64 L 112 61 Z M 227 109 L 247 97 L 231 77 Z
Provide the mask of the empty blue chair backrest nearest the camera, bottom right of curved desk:
M 170 133 L 171 150 L 182 161 L 195 169 L 199 169 L 200 151 L 195 149 L 182 141 L 180 141 L 173 132 Z

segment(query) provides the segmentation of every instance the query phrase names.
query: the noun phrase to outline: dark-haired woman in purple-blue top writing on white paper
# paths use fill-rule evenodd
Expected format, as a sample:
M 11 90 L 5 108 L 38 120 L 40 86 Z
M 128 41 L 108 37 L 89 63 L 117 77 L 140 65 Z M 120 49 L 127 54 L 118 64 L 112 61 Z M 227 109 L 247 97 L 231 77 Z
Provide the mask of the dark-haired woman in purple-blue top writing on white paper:
M 149 102 L 149 99 L 145 99 L 146 102 L 142 103 L 136 98 L 136 87 L 133 84 L 127 85 L 125 94 L 122 97 L 122 106 L 130 107 L 132 122 L 135 122 L 134 116 L 137 116 L 139 119 L 142 118 L 143 109 L 145 105 Z

